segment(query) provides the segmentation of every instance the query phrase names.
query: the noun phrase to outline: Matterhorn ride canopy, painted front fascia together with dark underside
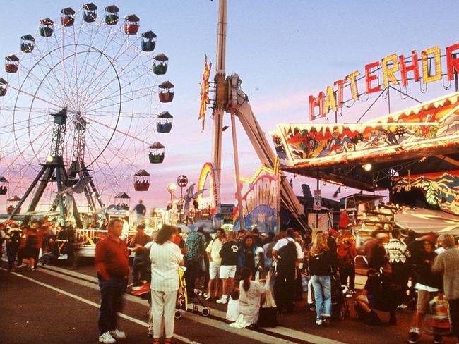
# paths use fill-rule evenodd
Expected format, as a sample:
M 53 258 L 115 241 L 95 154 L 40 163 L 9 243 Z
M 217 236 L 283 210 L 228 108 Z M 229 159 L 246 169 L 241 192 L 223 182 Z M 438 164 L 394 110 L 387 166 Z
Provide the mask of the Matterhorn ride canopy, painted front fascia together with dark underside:
M 387 190 L 408 173 L 458 169 L 459 92 L 366 123 L 279 124 L 271 134 L 283 171 Z

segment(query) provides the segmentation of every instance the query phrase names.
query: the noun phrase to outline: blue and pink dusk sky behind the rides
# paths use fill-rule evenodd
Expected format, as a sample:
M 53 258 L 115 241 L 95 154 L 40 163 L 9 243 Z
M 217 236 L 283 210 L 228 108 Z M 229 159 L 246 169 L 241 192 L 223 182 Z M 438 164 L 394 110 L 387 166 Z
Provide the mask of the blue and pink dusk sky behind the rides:
M 36 30 L 40 18 L 57 18 L 63 7 L 81 8 L 82 1 L 2 1 L 8 15 L 1 21 L 0 56 L 18 50 L 19 37 Z M 392 53 L 409 55 L 439 45 L 459 42 L 455 1 L 268 1 L 229 0 L 227 26 L 227 74 L 238 73 L 249 95 L 254 113 L 268 132 L 276 123 L 305 123 L 308 95 L 326 90 L 333 81 L 353 70 L 381 60 Z M 111 4 L 95 1 L 102 10 Z M 204 54 L 215 61 L 218 1 L 117 1 L 121 15 L 136 13 L 141 31 L 157 33 L 157 51 L 170 58 L 167 78 L 176 86 L 176 98 L 167 110 L 174 115 L 172 133 L 162 140 L 167 157 L 161 166 L 152 166 L 153 190 L 147 205 L 162 206 L 168 199 L 167 184 L 179 174 L 195 182 L 205 161 L 210 160 L 211 123 L 201 133 L 197 121 L 199 82 Z M 5 8 L 5 6 L 4 6 Z M 429 86 L 422 94 L 412 87 L 410 94 L 428 100 L 447 94 L 440 85 Z M 370 101 L 376 95 L 370 96 Z M 369 103 L 358 102 L 346 109 L 340 121 L 352 122 Z M 393 111 L 411 106 L 409 100 L 393 99 Z M 376 104 L 371 116 L 387 112 L 384 102 Z M 210 118 L 210 112 L 208 112 Z M 225 125 L 229 117 L 225 118 Z M 234 174 L 229 130 L 224 136 L 222 199 L 232 201 Z M 138 133 L 141 135 L 141 133 Z M 238 125 L 241 170 L 251 176 L 258 159 Z M 4 170 L 0 161 L 0 171 Z M 313 180 L 297 178 L 301 183 Z M 335 188 L 326 188 L 330 197 Z M 133 197 L 140 195 L 134 194 Z

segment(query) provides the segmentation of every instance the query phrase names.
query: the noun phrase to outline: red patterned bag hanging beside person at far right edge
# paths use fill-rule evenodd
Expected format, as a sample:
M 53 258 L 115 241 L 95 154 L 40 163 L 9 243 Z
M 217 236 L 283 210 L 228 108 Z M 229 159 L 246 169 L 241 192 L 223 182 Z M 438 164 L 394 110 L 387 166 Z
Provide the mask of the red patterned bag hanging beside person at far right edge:
M 426 314 L 424 330 L 430 335 L 451 334 L 448 300 L 443 295 L 436 296 L 429 302 L 429 313 Z

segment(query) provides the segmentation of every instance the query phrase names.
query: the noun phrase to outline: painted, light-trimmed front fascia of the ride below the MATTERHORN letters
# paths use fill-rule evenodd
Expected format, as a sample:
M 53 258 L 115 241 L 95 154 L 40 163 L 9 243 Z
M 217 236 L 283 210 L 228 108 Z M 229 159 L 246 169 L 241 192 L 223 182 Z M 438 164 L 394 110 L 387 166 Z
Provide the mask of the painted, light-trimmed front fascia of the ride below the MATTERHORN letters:
M 282 166 L 459 145 L 458 93 L 362 124 L 280 124 L 272 133 Z

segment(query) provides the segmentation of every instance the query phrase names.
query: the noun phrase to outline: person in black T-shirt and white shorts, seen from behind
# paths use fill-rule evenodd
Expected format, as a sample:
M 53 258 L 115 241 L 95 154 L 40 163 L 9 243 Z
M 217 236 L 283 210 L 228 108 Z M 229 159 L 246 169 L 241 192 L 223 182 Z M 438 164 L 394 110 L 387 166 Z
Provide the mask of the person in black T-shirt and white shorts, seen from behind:
M 220 250 L 220 257 L 222 264 L 220 266 L 220 279 L 223 283 L 223 295 L 217 303 L 226 304 L 228 302 L 228 295 L 234 288 L 234 276 L 236 275 L 237 253 L 239 246 L 236 242 L 236 233 L 228 231 L 226 233 L 226 242 Z

